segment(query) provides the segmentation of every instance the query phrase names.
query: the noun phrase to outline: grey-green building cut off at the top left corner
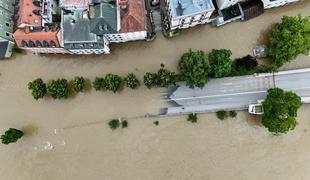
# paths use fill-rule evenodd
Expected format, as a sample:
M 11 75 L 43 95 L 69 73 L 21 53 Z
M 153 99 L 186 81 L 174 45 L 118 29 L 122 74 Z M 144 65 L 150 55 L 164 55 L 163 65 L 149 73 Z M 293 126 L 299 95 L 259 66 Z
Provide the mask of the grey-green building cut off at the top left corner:
M 0 59 L 11 57 L 14 47 L 14 3 L 15 0 L 0 1 Z

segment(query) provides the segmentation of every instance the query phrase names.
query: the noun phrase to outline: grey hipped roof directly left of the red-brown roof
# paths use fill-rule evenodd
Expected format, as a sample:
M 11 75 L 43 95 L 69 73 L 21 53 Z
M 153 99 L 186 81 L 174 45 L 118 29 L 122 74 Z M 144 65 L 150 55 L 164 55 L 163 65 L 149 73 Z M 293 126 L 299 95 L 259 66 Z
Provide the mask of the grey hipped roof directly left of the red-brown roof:
M 94 7 L 95 15 L 90 20 L 91 32 L 98 35 L 117 32 L 117 9 L 110 3 L 100 3 Z

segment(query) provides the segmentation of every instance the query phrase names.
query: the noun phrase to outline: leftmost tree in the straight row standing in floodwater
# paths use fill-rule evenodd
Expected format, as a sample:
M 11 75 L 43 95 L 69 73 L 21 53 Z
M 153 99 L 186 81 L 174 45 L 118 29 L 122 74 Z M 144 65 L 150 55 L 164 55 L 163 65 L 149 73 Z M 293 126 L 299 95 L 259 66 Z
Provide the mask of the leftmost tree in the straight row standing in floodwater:
M 31 94 L 35 100 L 43 98 L 46 94 L 46 84 L 41 78 L 29 82 L 28 89 L 31 90 Z

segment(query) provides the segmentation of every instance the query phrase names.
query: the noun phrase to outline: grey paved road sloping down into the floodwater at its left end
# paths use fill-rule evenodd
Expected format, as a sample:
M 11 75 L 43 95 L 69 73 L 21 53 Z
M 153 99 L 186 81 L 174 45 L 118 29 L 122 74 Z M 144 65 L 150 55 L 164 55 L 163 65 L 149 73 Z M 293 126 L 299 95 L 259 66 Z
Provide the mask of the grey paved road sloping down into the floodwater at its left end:
M 212 79 L 200 89 L 191 89 L 184 83 L 168 90 L 165 100 L 170 105 L 161 115 L 244 110 L 250 104 L 264 100 L 267 90 L 281 88 L 298 94 L 304 102 L 310 100 L 310 68 L 276 73 L 263 73 Z

